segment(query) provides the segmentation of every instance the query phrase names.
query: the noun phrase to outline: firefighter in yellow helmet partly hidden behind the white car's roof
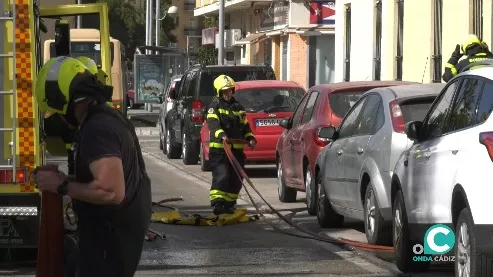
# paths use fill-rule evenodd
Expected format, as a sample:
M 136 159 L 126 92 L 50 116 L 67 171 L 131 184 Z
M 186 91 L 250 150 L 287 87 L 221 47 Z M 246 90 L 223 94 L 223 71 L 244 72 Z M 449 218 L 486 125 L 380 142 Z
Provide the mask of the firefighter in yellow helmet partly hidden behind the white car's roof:
M 459 61 L 464 55 L 466 58 Z M 488 45 L 481 41 L 476 35 L 469 35 L 462 45 L 457 44 L 455 46 L 452 56 L 445 64 L 445 72 L 443 73 L 442 78 L 445 82 L 448 82 L 467 65 L 492 58 L 493 54 L 488 49 Z M 476 67 L 470 69 L 474 68 Z

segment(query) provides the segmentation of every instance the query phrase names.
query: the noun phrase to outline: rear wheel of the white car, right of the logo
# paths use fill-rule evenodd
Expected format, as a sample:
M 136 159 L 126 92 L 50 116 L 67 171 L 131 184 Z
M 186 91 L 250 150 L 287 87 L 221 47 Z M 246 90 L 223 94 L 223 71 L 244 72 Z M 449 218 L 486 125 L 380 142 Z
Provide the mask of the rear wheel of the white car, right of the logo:
M 464 208 L 455 227 L 455 276 L 483 276 L 478 267 L 481 255 L 476 250 L 476 233 L 471 211 Z

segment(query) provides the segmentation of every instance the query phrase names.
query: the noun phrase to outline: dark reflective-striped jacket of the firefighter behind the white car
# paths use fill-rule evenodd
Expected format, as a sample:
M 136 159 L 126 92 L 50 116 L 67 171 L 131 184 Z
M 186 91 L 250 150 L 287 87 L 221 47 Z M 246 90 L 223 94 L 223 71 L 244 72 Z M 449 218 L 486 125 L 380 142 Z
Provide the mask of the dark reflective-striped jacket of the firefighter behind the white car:
M 459 62 L 457 57 L 451 57 L 445 64 L 445 72 L 443 73 L 442 78 L 445 82 L 448 82 L 450 79 L 455 77 L 455 75 L 460 73 L 467 65 L 488 59 L 493 59 L 493 54 L 490 51 L 485 51 L 482 47 L 475 47 L 474 49 L 467 51 L 466 58 L 460 60 Z M 469 70 L 479 67 L 482 66 L 474 66 L 469 68 Z

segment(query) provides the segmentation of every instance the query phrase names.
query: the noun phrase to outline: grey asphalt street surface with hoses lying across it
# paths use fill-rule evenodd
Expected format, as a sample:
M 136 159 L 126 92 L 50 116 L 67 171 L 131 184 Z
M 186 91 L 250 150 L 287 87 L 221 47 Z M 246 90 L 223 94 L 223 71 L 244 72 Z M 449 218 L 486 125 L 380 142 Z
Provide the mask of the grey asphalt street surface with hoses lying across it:
M 201 172 L 199 165 L 185 166 L 180 159 L 168 160 L 158 146 L 156 114 L 147 114 L 144 119 L 132 114 L 152 180 L 153 200 L 183 197 L 183 201 L 169 205 L 186 213 L 210 214 L 210 172 Z M 298 194 L 297 203 L 280 203 L 274 166 L 247 166 L 247 173 L 266 200 L 296 224 L 312 232 L 366 242 L 358 222 L 348 222 L 337 230 L 320 228 L 316 218 L 305 211 L 303 193 Z M 244 192 L 241 199 L 239 206 L 255 214 Z M 254 200 L 260 202 L 258 197 Z M 258 207 L 267 210 L 265 205 Z M 267 220 L 295 233 L 272 214 L 257 222 L 221 227 L 153 223 L 150 228 L 163 232 L 166 238 L 145 242 L 136 276 L 403 276 L 392 255 L 350 251 L 286 235 L 274 230 Z M 12 268 L 0 269 L 0 276 L 34 275 L 32 268 Z M 450 267 L 435 267 L 428 273 L 412 276 L 453 276 L 453 271 Z

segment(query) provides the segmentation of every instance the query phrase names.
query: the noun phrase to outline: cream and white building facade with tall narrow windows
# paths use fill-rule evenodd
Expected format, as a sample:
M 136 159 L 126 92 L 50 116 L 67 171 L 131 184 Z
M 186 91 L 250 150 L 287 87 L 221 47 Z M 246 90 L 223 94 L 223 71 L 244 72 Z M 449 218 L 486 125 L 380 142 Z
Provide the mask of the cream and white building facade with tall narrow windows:
M 441 82 L 468 34 L 491 45 L 492 10 L 492 0 L 338 0 L 335 81 Z

